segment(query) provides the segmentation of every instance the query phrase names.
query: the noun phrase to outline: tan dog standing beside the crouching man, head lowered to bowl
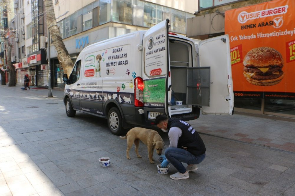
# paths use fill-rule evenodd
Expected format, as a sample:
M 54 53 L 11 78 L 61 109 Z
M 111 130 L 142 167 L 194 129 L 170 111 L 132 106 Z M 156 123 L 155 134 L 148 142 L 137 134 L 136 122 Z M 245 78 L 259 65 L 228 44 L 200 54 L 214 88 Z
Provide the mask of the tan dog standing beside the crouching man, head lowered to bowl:
M 134 127 L 127 132 L 126 136 L 120 136 L 120 138 L 127 139 L 127 159 L 130 159 L 129 150 L 133 143 L 135 144 L 137 158 L 141 158 L 141 156 L 138 155 L 139 140 L 148 147 L 148 159 L 150 160 L 150 163 L 155 163 L 153 158 L 154 149 L 156 149 L 158 155 L 162 154 L 164 142 L 162 137 L 155 130 Z

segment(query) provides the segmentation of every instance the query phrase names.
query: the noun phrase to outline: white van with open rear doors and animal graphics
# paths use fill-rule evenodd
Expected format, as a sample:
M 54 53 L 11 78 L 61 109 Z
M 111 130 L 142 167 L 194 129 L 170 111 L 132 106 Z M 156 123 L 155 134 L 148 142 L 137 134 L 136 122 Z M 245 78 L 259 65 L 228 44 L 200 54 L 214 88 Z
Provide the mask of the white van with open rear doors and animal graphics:
M 130 124 L 155 125 L 158 114 L 192 120 L 200 107 L 203 114 L 232 114 L 229 37 L 190 39 L 169 33 L 168 23 L 83 49 L 63 76 L 67 115 L 106 118 L 118 135 Z

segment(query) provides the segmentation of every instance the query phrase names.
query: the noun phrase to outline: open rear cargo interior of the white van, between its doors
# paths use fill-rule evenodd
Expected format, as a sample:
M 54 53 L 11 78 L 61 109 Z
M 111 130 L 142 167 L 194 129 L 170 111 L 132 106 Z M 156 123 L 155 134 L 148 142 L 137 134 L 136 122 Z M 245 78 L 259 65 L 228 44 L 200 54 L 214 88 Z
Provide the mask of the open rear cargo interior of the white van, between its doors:
M 191 45 L 176 39 L 169 39 L 171 73 L 171 115 L 192 112 L 192 106 L 186 103 L 187 67 L 192 67 Z M 176 101 L 181 101 L 177 105 Z

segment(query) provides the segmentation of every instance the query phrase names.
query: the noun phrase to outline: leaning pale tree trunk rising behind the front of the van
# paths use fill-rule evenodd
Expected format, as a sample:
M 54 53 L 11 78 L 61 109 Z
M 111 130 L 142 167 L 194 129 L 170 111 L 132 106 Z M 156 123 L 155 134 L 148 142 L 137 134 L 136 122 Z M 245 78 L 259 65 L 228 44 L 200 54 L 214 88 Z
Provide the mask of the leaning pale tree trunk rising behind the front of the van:
M 52 38 L 53 45 L 57 52 L 57 58 L 63 67 L 63 72 L 69 75 L 74 65 L 60 36 L 59 28 L 56 24 L 53 2 L 52 0 L 44 0 L 43 2 L 46 10 L 46 23 L 50 32 L 50 37 Z

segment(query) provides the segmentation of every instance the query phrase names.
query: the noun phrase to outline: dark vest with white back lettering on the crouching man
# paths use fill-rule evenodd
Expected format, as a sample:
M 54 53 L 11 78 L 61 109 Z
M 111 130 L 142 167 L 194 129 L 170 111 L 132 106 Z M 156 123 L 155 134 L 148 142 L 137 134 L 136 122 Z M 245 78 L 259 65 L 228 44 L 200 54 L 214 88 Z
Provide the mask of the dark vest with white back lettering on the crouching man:
M 184 148 L 193 155 L 202 155 L 206 152 L 206 147 L 196 130 L 187 122 L 175 118 L 168 120 L 167 128 L 179 127 L 182 134 L 178 139 L 178 148 Z

